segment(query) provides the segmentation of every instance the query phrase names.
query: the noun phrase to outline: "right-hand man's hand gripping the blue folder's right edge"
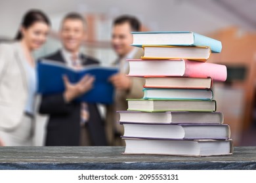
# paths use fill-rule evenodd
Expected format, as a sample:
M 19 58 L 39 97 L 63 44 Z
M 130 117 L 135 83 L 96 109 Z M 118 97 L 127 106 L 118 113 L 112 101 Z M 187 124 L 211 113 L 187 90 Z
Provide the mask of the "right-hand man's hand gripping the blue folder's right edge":
M 116 90 L 129 90 L 131 88 L 131 78 L 122 73 L 111 76 L 110 82 L 112 82 Z

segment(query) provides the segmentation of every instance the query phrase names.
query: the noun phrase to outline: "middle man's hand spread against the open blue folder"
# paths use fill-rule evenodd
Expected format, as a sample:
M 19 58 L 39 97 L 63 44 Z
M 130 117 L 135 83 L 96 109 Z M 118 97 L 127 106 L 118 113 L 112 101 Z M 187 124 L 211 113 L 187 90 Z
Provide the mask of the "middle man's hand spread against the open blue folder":
M 79 95 L 91 90 L 93 88 L 95 78 L 93 76 L 85 75 L 81 80 L 79 80 L 79 82 L 72 84 L 68 80 L 67 76 L 63 76 L 63 81 L 66 88 L 64 98 L 66 102 L 70 102 L 76 97 L 79 97 Z

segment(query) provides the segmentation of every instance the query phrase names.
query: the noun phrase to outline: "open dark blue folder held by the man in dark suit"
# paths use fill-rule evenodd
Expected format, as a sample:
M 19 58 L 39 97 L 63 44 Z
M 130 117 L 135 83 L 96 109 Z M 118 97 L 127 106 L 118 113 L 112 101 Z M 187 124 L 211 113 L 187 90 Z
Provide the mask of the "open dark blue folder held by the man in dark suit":
M 117 73 L 116 67 L 102 67 L 90 65 L 77 71 L 67 67 L 64 63 L 56 61 L 40 60 L 37 63 L 37 92 L 42 95 L 51 95 L 64 92 L 65 86 L 63 76 L 68 76 L 72 83 L 76 83 L 83 76 L 89 74 L 95 77 L 93 89 L 77 98 L 77 101 L 87 103 L 110 104 L 114 100 L 114 86 L 108 81 L 108 78 Z

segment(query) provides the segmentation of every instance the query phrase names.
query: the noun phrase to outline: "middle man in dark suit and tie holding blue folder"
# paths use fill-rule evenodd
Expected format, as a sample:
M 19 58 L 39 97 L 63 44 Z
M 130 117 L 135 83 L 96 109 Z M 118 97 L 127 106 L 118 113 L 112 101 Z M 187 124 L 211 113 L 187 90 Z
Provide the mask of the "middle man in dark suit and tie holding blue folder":
M 66 63 L 73 69 L 81 69 L 85 65 L 98 64 L 96 59 L 79 52 L 85 40 L 86 22 L 77 13 L 70 13 L 62 20 L 60 37 L 63 48 L 45 59 Z M 47 125 L 47 146 L 78 146 L 107 144 L 104 122 L 97 105 L 78 103 L 75 98 L 88 92 L 93 87 L 95 78 L 86 75 L 79 82 L 70 83 L 63 77 L 66 90 L 63 93 L 44 95 L 39 112 L 49 114 Z

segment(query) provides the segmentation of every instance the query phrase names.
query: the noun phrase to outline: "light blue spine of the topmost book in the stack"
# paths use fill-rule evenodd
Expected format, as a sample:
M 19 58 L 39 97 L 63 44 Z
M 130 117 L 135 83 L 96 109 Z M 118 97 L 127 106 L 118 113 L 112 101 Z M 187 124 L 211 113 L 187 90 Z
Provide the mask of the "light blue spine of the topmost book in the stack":
M 205 37 L 203 35 L 194 33 L 194 46 L 210 46 L 213 53 L 220 53 L 222 49 L 221 41 Z

